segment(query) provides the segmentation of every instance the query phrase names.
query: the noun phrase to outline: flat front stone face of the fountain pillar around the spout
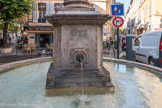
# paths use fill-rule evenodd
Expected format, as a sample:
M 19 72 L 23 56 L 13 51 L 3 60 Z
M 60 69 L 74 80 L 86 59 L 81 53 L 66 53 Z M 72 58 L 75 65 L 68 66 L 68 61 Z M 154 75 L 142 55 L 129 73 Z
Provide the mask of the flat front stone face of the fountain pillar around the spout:
M 62 25 L 61 64 L 63 69 L 75 69 L 75 66 L 70 64 L 70 53 L 72 53 L 72 49 L 79 48 L 88 49 L 86 55 L 88 67 L 86 68 L 97 68 L 97 27 L 92 25 Z

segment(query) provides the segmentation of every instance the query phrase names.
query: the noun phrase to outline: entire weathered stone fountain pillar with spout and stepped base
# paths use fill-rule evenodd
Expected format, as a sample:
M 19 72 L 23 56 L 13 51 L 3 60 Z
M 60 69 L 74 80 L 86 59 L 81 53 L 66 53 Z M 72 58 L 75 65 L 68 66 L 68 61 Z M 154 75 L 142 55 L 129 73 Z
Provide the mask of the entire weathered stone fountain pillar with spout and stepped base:
M 81 62 L 84 87 L 113 87 L 102 56 L 103 24 L 112 17 L 95 11 L 87 0 L 66 0 L 61 11 L 46 18 L 54 28 L 46 89 L 80 88 Z

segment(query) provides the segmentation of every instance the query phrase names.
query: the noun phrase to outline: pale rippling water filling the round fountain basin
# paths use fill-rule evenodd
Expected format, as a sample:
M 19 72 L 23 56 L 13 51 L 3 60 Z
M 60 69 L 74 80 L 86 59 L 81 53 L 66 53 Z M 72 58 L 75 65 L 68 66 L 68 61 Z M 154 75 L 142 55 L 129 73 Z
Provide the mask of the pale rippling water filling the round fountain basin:
M 113 93 L 47 97 L 45 84 L 49 66 L 50 62 L 45 62 L 0 74 L 0 108 L 6 106 L 7 108 L 161 108 L 162 106 L 161 76 L 111 62 L 104 62 L 104 66 L 110 71 L 115 86 Z

